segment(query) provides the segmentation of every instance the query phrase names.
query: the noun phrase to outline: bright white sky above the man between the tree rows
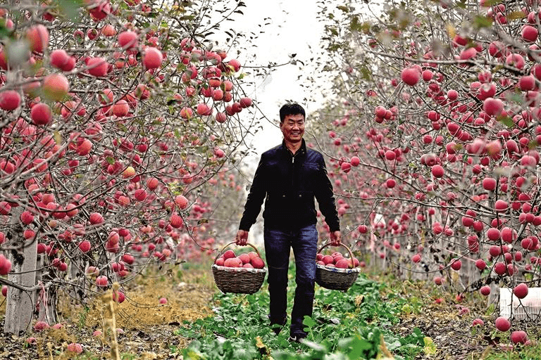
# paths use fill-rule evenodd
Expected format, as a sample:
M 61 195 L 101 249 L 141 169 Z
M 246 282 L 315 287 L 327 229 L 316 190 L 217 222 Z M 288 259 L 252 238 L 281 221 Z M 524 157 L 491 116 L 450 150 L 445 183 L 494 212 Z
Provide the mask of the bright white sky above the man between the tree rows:
M 256 46 L 249 49 L 254 51 L 254 54 L 242 53 L 239 56 L 240 62 L 246 65 L 266 65 L 269 62 L 281 64 L 290 60 L 290 54 L 296 53 L 295 59 L 306 65 L 301 69 L 299 65 L 282 66 L 264 81 L 263 77 L 252 77 L 250 80 L 256 82 L 256 89 L 249 96 L 254 98 L 261 112 L 274 124 L 278 124 L 278 110 L 286 100 L 301 103 L 306 113 L 316 110 L 323 100 L 321 94 L 307 94 L 307 89 L 301 86 L 302 79 L 297 78 L 299 75 L 305 77 L 306 74 L 311 74 L 313 68 L 309 59 L 316 56 L 314 51 L 321 51 L 319 42 L 323 34 L 323 24 L 316 18 L 317 1 L 244 0 L 244 3 L 247 7 L 242 8 L 244 15 L 235 20 L 235 30 L 244 34 L 259 34 L 262 27 L 258 25 L 270 25 L 263 28 L 265 33 L 255 40 Z M 265 18 L 270 19 L 264 20 Z M 313 101 L 306 103 L 303 101 L 305 97 L 312 98 Z M 253 142 L 258 158 L 264 150 L 282 141 L 278 127 L 266 120 L 261 121 L 263 130 L 256 134 Z

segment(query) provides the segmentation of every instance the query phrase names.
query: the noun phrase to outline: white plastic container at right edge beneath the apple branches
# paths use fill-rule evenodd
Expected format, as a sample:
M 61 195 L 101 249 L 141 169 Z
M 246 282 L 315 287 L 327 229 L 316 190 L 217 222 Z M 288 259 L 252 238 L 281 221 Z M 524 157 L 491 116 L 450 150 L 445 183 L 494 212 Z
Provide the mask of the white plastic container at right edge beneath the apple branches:
M 529 288 L 528 295 L 523 299 L 518 299 L 513 295 L 513 289 L 511 288 L 499 288 L 499 315 L 511 319 L 511 313 L 513 319 L 540 321 L 541 288 Z

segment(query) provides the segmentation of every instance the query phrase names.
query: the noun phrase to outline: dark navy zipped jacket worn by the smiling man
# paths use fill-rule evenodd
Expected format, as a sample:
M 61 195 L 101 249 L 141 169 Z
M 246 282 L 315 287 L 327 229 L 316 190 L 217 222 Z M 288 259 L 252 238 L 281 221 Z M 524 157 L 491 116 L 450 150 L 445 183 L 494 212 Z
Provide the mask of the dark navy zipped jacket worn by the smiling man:
M 330 231 L 340 230 L 323 155 L 306 148 L 304 139 L 293 155 L 282 141 L 281 145 L 261 155 L 239 229 L 249 231 L 261 211 L 263 200 L 263 219 L 268 229 L 294 230 L 316 224 L 314 198 L 318 200 L 319 210 Z

